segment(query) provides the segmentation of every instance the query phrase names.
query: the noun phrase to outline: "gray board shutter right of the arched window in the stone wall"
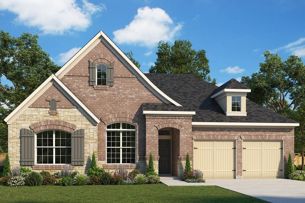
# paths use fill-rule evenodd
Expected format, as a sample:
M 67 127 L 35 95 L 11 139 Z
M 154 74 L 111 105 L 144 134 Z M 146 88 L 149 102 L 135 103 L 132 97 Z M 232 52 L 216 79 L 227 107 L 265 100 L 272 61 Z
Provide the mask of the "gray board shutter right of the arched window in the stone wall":
M 72 138 L 72 165 L 84 165 L 84 129 L 76 130 L 71 134 Z

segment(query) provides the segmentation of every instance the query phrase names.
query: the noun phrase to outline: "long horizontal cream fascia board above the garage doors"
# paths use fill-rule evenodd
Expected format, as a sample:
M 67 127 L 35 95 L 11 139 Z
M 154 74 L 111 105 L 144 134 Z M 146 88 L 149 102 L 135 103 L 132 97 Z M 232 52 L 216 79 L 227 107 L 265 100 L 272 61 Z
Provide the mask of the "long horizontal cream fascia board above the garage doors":
M 194 127 L 225 127 L 225 128 L 294 128 L 299 123 L 239 123 L 239 122 L 192 122 Z

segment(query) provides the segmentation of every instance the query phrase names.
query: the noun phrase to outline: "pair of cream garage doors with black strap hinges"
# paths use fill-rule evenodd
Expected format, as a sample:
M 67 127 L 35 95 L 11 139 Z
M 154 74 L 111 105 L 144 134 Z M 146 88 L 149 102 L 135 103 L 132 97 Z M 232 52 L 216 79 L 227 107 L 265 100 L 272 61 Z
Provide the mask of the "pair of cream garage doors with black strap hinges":
M 243 140 L 243 178 L 282 178 L 283 141 Z M 194 169 L 204 178 L 236 177 L 236 140 L 194 140 Z

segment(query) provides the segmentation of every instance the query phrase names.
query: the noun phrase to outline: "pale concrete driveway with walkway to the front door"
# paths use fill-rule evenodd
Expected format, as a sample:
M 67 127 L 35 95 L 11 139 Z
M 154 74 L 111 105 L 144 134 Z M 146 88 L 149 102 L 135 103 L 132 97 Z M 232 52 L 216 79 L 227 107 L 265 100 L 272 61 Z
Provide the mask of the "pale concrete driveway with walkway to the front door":
M 180 178 L 160 177 L 168 186 L 215 185 L 265 201 L 304 203 L 305 182 L 287 179 L 207 179 L 206 183 L 186 183 Z

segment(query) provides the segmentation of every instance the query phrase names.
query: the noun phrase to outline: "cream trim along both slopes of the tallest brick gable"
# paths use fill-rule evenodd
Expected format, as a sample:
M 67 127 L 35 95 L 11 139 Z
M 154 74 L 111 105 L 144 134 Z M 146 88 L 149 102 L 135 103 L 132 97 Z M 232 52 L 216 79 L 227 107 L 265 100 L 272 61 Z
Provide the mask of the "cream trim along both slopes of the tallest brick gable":
M 99 42 L 103 42 L 106 46 L 114 53 L 116 56 L 122 61 L 122 63 L 129 68 L 129 70 L 158 98 L 160 98 L 163 102 L 174 104 L 176 106 L 181 106 L 178 102 L 171 99 L 165 93 L 163 93 L 159 88 L 157 88 L 145 75 L 140 71 L 139 68 L 133 64 L 130 59 L 117 47 L 116 44 L 113 43 L 110 38 L 103 33 L 101 30 L 97 33 L 80 51 L 78 51 L 62 68 L 56 72 L 56 77 L 61 79 L 67 72 L 71 70 L 89 51 L 92 50 Z

